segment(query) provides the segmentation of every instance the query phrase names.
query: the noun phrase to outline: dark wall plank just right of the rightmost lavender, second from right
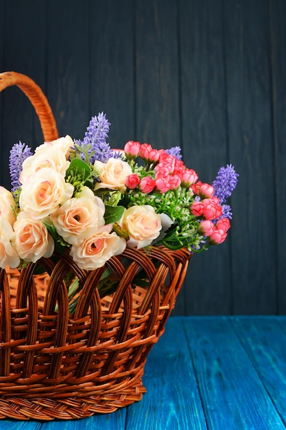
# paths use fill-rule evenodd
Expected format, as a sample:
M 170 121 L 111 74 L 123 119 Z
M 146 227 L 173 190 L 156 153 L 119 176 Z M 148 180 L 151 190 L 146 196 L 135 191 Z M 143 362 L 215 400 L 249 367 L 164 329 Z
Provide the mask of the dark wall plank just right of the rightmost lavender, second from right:
M 275 201 L 267 1 L 225 1 L 235 313 L 275 313 Z

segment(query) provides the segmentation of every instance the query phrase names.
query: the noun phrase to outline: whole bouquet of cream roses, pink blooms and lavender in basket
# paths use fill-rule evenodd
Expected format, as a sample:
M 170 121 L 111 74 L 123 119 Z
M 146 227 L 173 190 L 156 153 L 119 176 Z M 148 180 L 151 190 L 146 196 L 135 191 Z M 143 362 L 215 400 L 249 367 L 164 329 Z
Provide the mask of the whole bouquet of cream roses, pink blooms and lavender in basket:
M 0 267 L 23 267 L 69 252 L 80 269 L 102 267 L 126 247 L 164 245 L 204 251 L 226 239 L 237 185 L 233 166 L 213 184 L 184 166 L 178 146 L 156 150 L 106 141 L 104 113 L 91 119 L 84 139 L 68 135 L 32 151 L 10 151 L 12 191 L 0 188 Z

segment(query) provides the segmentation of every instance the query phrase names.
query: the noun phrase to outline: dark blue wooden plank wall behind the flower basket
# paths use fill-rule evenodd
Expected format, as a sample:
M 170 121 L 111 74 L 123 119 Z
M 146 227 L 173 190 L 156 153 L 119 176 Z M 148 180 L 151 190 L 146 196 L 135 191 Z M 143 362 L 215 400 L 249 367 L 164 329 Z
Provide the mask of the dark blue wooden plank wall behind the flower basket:
M 177 314 L 286 312 L 285 22 L 285 0 L 0 0 L 0 70 L 42 87 L 60 135 L 104 111 L 113 147 L 180 144 L 203 181 L 239 172 L 229 237 L 194 256 Z M 19 89 L 0 120 L 9 186 L 10 146 L 42 135 Z

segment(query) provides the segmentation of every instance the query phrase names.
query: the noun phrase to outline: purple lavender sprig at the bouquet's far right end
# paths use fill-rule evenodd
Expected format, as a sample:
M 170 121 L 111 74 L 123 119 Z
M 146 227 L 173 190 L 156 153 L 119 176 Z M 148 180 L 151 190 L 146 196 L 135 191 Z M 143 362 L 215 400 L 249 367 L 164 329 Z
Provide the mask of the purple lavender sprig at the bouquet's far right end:
M 239 174 L 235 172 L 235 168 L 231 164 L 219 169 L 217 177 L 213 181 L 213 188 L 215 188 L 215 196 L 219 198 L 220 203 L 224 203 L 231 195 L 237 186 L 238 177 Z

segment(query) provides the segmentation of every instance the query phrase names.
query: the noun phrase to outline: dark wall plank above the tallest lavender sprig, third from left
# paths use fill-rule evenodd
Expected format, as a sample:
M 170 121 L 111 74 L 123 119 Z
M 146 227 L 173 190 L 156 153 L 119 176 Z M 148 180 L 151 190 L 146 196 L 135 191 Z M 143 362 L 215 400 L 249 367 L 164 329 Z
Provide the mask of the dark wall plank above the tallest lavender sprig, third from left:
M 134 139 L 133 1 L 91 1 L 91 115 L 104 111 L 108 142 L 123 148 Z

